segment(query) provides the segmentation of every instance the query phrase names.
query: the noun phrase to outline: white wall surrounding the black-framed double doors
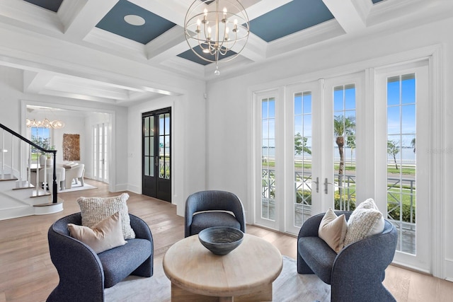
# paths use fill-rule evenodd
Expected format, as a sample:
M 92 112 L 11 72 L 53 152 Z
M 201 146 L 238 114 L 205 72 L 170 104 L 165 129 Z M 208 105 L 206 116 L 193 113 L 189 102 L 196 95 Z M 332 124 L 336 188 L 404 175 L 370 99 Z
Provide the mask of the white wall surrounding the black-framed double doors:
M 142 113 L 171 107 L 172 115 L 172 200 L 184 215 L 185 199 L 205 190 L 205 83 L 180 83 L 183 95 L 166 96 L 129 108 L 127 190 L 142 193 Z

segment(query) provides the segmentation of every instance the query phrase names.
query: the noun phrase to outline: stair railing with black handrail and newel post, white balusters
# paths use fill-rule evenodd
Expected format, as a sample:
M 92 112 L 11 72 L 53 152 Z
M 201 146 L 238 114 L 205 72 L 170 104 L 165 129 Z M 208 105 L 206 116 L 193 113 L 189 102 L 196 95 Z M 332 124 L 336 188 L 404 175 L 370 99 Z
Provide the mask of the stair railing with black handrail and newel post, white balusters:
M 17 132 L 14 132 L 13 130 L 9 129 L 8 127 L 4 126 L 3 124 L 0 124 L 0 128 L 1 129 L 4 129 L 6 132 L 9 132 L 10 134 L 12 134 L 14 137 L 17 137 L 18 139 L 21 139 L 21 141 L 24 141 L 26 144 L 28 144 L 29 146 L 33 146 L 35 149 L 38 149 L 40 150 L 41 152 L 43 153 L 52 153 L 53 154 L 53 182 L 52 182 L 52 203 L 54 204 L 57 204 L 57 201 L 58 201 L 58 197 L 57 197 L 57 150 L 46 150 L 44 148 L 42 148 L 42 146 L 39 146 L 38 144 L 35 144 L 33 143 L 33 141 L 30 141 L 29 139 L 26 139 L 25 137 L 21 136 L 21 134 L 18 134 Z M 2 153 L 2 156 L 1 156 L 1 163 L 2 163 L 2 167 L 1 167 L 1 178 L 4 179 L 4 163 L 5 163 L 5 155 L 4 155 L 4 135 L 2 137 L 2 146 L 1 146 L 1 153 Z M 11 175 L 13 175 L 13 142 L 11 141 Z M 36 174 L 37 174 L 37 182 L 36 182 L 36 186 L 37 186 L 37 192 L 38 192 L 38 173 L 39 173 L 39 168 L 38 168 L 38 165 L 39 165 L 39 160 L 37 162 L 37 170 L 36 170 Z M 28 164 L 28 173 L 30 173 L 30 164 Z M 47 178 L 47 172 L 45 171 L 44 173 L 44 180 L 46 181 L 46 178 Z M 28 179 L 29 180 L 29 179 Z

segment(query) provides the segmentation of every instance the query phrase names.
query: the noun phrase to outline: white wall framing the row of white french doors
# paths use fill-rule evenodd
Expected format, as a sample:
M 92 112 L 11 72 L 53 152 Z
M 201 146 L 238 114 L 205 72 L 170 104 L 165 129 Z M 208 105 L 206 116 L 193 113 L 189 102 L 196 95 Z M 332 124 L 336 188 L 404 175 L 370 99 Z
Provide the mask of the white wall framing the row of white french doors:
M 235 192 L 246 204 L 247 219 L 251 221 L 251 92 L 276 88 L 296 81 L 316 80 L 319 77 L 335 76 L 335 73 L 350 73 L 375 67 L 371 62 L 391 62 L 399 54 L 417 52 L 423 47 L 442 45 L 442 95 L 444 116 L 434 120 L 444 120 L 442 133 L 437 135 L 445 149 L 440 150 L 437 159 L 445 161 L 442 169 L 445 178 L 436 200 L 431 200 L 433 232 L 440 233 L 439 247 L 434 247 L 433 272 L 438 277 L 453 279 L 453 238 L 449 230 L 453 229 L 453 220 L 447 219 L 453 214 L 453 203 L 449 202 L 449 182 L 453 179 L 453 137 L 449 129 L 453 127 L 453 18 L 415 28 L 396 32 L 387 30 L 365 37 L 338 37 L 327 42 L 307 47 L 291 57 L 273 60 L 265 66 L 251 66 L 250 74 L 236 76 L 231 79 L 219 79 L 207 83 L 207 189 L 225 189 Z M 384 58 L 384 59 L 378 59 Z M 357 70 L 356 70 L 357 69 Z M 443 137 L 442 137 L 443 135 Z M 447 152 L 445 152 L 447 150 Z M 438 162 L 433 158 L 433 162 Z M 443 210 L 443 211 L 442 211 Z M 444 216 L 442 216 L 442 214 Z M 436 228 L 438 219 L 444 219 L 440 229 Z M 430 244 L 430 243 L 427 243 Z M 445 247 L 445 255 L 442 246 Z M 445 268 L 444 268 L 445 267 Z

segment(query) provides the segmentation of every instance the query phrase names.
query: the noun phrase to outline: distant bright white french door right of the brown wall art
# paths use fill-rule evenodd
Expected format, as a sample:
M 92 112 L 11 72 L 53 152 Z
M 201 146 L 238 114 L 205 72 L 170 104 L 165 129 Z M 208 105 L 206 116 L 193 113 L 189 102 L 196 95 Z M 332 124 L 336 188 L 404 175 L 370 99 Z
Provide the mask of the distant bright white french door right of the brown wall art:
M 93 138 L 93 179 L 108 183 L 108 123 L 91 128 Z

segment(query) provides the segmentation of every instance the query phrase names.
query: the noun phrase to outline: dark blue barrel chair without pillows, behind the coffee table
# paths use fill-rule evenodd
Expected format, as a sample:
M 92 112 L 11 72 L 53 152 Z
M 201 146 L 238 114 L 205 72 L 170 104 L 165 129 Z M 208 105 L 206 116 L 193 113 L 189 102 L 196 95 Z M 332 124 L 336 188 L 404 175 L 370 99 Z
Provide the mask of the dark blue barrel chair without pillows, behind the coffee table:
M 246 232 L 246 215 L 239 197 L 225 191 L 201 191 L 185 202 L 185 237 L 211 226 L 231 226 Z

